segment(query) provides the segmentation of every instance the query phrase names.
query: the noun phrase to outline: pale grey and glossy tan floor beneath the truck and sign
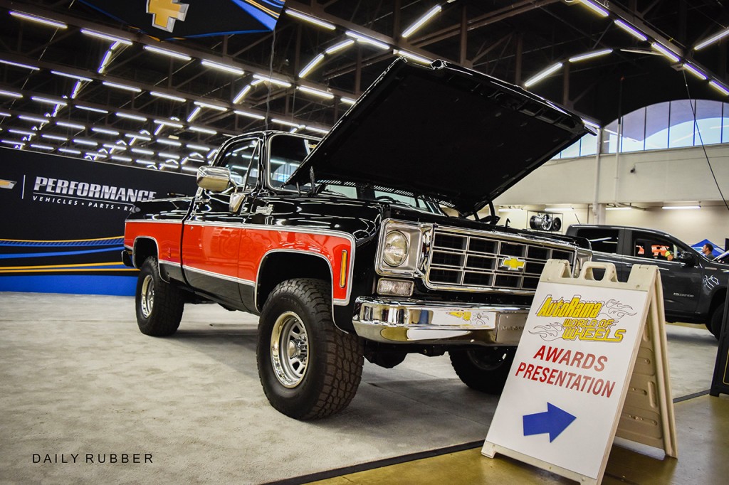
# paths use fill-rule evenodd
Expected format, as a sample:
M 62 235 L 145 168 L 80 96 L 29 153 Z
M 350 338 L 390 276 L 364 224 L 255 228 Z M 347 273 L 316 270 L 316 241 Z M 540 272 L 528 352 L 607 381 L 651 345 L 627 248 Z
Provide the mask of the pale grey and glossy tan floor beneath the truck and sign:
M 300 483 L 483 441 L 497 402 L 462 385 L 447 357 L 411 355 L 394 369 L 367 363 L 343 413 L 297 422 L 262 393 L 250 315 L 188 305 L 178 333 L 154 339 L 124 297 L 0 293 L 0 309 L 2 483 Z M 667 334 L 674 398 L 708 390 L 714 338 L 695 326 Z M 679 460 L 615 446 L 604 483 L 723 483 L 728 411 L 727 396 L 677 403 Z M 334 483 L 569 483 L 480 449 L 339 474 Z

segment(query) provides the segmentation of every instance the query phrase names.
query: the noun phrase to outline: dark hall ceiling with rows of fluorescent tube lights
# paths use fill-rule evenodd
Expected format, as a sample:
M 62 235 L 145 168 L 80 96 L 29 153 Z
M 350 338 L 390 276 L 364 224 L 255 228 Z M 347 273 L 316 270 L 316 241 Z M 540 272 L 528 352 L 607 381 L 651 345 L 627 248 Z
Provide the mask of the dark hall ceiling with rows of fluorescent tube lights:
M 160 42 L 80 1 L 0 0 L 3 145 L 192 171 L 226 135 L 325 133 L 400 54 L 520 84 L 599 124 L 689 93 L 729 99 L 729 36 L 695 49 L 729 32 L 725 1 L 288 0 L 285 9 L 273 33 Z M 580 58 L 588 53 L 601 55 Z

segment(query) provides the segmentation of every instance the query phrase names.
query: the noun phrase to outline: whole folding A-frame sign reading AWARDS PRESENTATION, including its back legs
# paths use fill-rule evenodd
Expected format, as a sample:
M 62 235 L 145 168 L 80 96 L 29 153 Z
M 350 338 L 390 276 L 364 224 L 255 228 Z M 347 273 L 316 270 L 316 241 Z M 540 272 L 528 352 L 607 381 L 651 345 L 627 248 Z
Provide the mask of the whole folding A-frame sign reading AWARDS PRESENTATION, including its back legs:
M 599 484 L 616 435 L 678 456 L 663 291 L 647 264 L 571 275 L 547 261 L 482 453 Z

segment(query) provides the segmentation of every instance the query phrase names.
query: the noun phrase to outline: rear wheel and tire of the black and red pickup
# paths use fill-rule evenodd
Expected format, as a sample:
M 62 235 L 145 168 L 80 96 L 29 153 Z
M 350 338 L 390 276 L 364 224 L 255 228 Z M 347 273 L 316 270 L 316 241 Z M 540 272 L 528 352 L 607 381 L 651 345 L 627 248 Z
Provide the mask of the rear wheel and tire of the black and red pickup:
M 182 320 L 184 298 L 182 292 L 160 277 L 157 259 L 144 260 L 137 278 L 135 307 L 137 325 L 142 334 L 170 336 L 177 331 Z

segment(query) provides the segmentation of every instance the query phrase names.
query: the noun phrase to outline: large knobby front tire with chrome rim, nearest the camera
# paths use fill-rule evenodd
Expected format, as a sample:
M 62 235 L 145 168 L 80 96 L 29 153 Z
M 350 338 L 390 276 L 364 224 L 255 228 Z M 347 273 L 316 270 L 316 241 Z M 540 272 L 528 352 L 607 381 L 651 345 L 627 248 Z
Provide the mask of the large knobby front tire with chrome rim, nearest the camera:
M 321 280 L 279 284 L 261 312 L 258 375 L 271 406 L 295 419 L 344 409 L 362 379 L 363 345 L 334 326 Z

